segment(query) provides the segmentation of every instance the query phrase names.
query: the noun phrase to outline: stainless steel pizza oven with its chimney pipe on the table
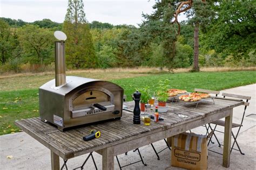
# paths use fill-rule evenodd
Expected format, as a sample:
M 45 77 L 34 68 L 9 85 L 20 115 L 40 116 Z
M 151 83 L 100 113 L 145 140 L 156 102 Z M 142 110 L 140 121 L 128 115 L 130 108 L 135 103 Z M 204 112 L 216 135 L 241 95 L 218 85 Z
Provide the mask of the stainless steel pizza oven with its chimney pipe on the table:
M 122 117 L 124 90 L 109 81 L 65 75 L 65 42 L 55 42 L 56 78 L 39 87 L 39 113 L 59 130 Z

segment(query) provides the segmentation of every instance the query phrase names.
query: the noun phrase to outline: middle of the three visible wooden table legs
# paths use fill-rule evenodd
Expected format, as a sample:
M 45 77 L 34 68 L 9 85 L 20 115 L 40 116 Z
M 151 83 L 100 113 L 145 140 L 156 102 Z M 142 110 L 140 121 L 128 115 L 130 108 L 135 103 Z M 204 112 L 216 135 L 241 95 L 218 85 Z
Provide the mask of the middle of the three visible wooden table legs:
M 102 169 L 103 170 L 114 169 L 113 147 L 107 147 L 102 149 Z

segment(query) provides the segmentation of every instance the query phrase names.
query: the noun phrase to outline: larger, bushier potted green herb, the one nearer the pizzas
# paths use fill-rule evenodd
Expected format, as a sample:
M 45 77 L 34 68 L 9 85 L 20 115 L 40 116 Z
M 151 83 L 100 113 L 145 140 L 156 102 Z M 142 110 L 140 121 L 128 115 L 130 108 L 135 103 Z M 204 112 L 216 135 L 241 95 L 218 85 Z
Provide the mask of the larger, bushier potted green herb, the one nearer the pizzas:
M 170 89 L 170 80 L 160 80 L 157 86 L 157 100 L 158 106 L 166 106 L 166 101 L 169 98 L 168 90 Z

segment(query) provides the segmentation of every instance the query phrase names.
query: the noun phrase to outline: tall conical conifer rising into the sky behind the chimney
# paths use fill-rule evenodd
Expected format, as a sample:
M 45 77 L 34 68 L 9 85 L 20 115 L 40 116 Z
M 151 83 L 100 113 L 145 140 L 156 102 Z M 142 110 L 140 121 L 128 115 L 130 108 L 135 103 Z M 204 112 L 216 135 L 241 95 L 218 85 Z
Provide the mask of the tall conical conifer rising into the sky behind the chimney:
M 96 67 L 98 60 L 89 24 L 86 23 L 82 0 L 69 0 L 63 31 L 68 37 L 66 40 L 68 66 L 76 69 Z

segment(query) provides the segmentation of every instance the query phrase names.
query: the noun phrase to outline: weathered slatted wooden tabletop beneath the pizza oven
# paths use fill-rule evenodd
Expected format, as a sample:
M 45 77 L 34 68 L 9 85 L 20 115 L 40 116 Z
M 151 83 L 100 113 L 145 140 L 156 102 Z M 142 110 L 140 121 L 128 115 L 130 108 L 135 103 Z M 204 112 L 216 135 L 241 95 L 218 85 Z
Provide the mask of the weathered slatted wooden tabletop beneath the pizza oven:
M 134 125 L 133 113 L 127 111 L 123 111 L 123 116 L 120 120 L 77 127 L 64 132 L 59 131 L 55 126 L 44 123 L 39 118 L 23 119 L 16 121 L 15 124 L 24 132 L 31 135 L 31 137 L 51 149 L 51 151 L 59 157 L 63 159 L 70 159 L 85 153 L 118 145 L 122 142 L 134 140 L 137 137 L 142 137 L 143 134 L 153 134 L 166 131 L 180 125 L 186 125 L 186 128 L 197 127 L 194 125 L 187 125 L 192 122 L 196 123 L 196 120 L 203 120 L 203 118 L 211 117 L 214 114 L 230 111 L 233 107 L 243 104 L 242 101 L 224 99 L 214 99 L 214 101 L 215 104 L 201 102 L 198 104 L 197 108 L 195 108 L 196 103 L 186 105 L 180 105 L 179 102 L 176 104 L 169 103 L 167 104 L 169 106 L 169 111 L 167 113 L 160 113 L 160 117 L 164 118 L 164 121 L 159 121 L 159 123 L 151 121 L 150 126 L 144 126 L 143 121 L 140 125 Z M 134 102 L 131 101 L 124 103 L 124 105 L 133 109 L 133 103 Z M 178 115 L 173 112 L 185 114 L 188 118 L 179 118 Z M 223 117 L 226 116 L 227 115 Z M 215 119 L 219 118 L 222 117 L 216 117 Z M 212 121 L 204 120 L 205 123 L 207 123 L 206 121 Z M 204 122 L 201 124 L 203 123 Z M 198 126 L 200 126 L 200 124 L 198 124 Z M 184 127 L 184 129 L 179 132 L 177 131 L 177 133 L 188 130 L 186 128 Z M 90 134 L 92 129 L 101 132 L 100 138 L 84 141 L 83 137 Z

